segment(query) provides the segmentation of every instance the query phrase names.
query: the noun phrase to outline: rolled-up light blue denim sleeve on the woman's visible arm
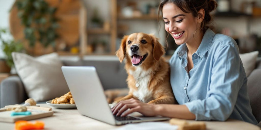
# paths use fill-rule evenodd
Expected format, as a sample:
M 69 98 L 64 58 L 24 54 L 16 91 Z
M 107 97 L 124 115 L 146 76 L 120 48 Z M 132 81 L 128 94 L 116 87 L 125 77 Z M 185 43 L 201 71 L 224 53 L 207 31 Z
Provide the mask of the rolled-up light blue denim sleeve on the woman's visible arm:
M 229 118 L 243 82 L 239 80 L 239 69 L 240 57 L 234 44 L 222 47 L 215 54 L 206 99 L 185 103 L 196 120 L 225 121 Z

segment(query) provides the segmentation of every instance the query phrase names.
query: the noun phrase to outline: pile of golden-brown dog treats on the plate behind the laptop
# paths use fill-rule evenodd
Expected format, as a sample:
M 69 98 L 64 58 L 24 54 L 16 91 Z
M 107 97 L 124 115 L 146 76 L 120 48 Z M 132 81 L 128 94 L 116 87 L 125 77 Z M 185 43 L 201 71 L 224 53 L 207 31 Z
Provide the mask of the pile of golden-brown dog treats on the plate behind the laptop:
M 71 92 L 64 94 L 63 96 L 56 97 L 52 100 L 52 104 L 75 104 Z

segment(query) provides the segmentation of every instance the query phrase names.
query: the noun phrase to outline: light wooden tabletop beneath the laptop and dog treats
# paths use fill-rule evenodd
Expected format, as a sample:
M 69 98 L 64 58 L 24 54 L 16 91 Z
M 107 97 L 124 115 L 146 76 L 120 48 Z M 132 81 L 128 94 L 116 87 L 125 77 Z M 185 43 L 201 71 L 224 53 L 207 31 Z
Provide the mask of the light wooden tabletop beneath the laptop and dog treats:
M 41 107 L 51 107 L 47 104 L 38 104 Z M 121 126 L 109 125 L 104 122 L 97 121 L 95 119 L 80 115 L 77 109 L 55 109 L 53 108 L 53 116 L 36 119 L 45 123 L 45 129 L 88 129 L 88 130 L 108 130 L 115 129 Z M 31 120 L 34 121 L 34 120 Z M 164 121 L 168 123 L 168 121 Z M 188 121 L 196 122 L 196 121 Z M 218 121 L 205 121 L 208 130 L 260 130 L 256 125 L 228 119 L 225 122 Z M 14 123 L 0 122 L 0 129 L 14 129 Z

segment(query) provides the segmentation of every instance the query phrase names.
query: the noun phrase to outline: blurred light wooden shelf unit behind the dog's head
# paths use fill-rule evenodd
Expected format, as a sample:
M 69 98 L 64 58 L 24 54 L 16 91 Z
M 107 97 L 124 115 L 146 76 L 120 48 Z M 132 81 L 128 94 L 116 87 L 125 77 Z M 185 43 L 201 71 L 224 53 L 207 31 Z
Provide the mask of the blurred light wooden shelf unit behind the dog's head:
M 155 15 L 141 15 L 139 17 L 124 17 L 120 16 L 118 12 L 118 7 L 119 7 L 119 1 L 120 0 L 110 0 L 110 27 L 107 29 L 104 28 L 88 28 L 87 24 L 87 11 L 88 8 L 86 8 L 86 3 L 84 1 L 81 1 L 81 8 L 80 8 L 80 13 L 79 13 L 79 31 L 80 31 L 80 44 L 79 44 L 79 53 L 71 54 L 70 52 L 63 52 L 60 51 L 58 52 L 59 55 L 79 55 L 80 57 L 83 57 L 85 55 L 115 55 L 116 52 L 116 41 L 117 41 L 117 36 L 118 33 L 122 33 L 123 31 L 126 30 L 121 30 L 118 28 L 118 21 L 128 21 L 128 20 L 137 20 L 137 21 L 142 21 L 142 20 L 153 20 L 156 21 L 158 20 L 158 16 Z M 128 2 L 128 1 L 126 1 Z M 139 2 L 139 1 L 137 1 Z M 107 35 L 109 37 L 109 42 L 108 42 L 108 48 L 109 52 L 104 52 L 104 53 L 95 53 L 95 52 L 90 52 L 90 39 L 93 37 L 99 37 L 99 36 L 104 36 Z

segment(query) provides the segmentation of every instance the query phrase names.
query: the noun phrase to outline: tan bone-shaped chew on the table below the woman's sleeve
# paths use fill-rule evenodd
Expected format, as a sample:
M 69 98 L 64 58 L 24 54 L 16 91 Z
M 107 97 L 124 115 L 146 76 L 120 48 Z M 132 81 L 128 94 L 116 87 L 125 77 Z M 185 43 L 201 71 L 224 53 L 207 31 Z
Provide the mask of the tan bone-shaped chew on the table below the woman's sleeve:
M 171 125 L 178 125 L 179 130 L 197 130 L 197 129 L 206 129 L 206 124 L 204 122 L 195 122 L 195 123 L 188 123 L 186 120 L 183 119 L 170 119 Z

